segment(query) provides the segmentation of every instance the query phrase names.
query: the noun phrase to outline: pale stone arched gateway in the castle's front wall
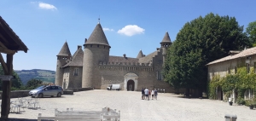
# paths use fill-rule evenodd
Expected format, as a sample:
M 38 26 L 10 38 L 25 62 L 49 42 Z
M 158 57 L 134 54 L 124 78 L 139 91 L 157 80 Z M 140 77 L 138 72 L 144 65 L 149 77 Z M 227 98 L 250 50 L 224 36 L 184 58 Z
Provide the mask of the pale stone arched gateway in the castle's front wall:
M 124 90 L 137 90 L 137 74 L 129 72 L 125 74 L 124 78 Z

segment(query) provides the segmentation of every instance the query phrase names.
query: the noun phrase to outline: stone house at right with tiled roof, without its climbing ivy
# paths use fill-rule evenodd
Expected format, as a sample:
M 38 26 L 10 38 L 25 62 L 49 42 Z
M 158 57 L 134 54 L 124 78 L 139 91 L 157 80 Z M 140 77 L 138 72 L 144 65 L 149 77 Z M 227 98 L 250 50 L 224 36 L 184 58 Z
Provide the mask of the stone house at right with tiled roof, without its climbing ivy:
M 244 49 L 242 51 L 230 51 L 230 55 L 219 60 L 214 60 L 207 64 L 208 66 L 208 80 L 211 81 L 216 75 L 220 78 L 224 78 L 227 74 L 236 74 L 238 67 L 246 67 L 247 73 L 256 73 L 256 47 L 250 49 Z M 223 91 L 220 87 L 216 89 L 217 100 L 224 99 Z M 233 89 L 230 95 L 233 101 L 236 102 L 237 92 Z M 244 99 L 253 98 L 253 90 L 247 89 L 244 94 Z

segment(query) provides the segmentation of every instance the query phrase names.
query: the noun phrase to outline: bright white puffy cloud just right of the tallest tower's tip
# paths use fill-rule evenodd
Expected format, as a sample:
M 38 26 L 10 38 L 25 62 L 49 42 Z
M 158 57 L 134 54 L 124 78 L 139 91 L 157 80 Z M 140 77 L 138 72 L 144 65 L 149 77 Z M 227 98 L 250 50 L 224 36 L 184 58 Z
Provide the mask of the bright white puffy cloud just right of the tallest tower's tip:
M 142 34 L 144 32 L 145 32 L 145 29 L 137 25 L 128 25 L 118 31 L 119 34 L 124 34 L 126 36 L 133 36 L 136 34 Z

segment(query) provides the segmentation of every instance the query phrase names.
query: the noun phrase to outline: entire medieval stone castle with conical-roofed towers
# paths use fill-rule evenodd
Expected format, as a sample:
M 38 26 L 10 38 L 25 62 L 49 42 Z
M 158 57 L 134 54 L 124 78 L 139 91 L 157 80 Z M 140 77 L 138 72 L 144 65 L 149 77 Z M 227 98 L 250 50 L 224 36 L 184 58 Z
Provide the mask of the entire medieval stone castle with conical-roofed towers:
M 57 55 L 55 84 L 64 89 L 94 88 L 107 89 L 109 84 L 120 84 L 123 90 L 174 89 L 163 80 L 163 64 L 166 50 L 172 41 L 166 32 L 157 48 L 149 55 L 138 52 L 137 58 L 109 55 L 108 39 L 98 23 L 88 40 L 85 38 L 84 50 L 78 46 L 71 55 L 67 42 Z

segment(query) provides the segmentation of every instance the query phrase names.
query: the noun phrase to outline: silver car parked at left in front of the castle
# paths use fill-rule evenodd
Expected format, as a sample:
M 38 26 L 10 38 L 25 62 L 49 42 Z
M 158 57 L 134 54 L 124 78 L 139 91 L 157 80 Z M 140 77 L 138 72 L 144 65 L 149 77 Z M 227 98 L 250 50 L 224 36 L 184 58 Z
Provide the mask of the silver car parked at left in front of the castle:
M 60 86 L 40 86 L 37 89 L 32 89 L 28 95 L 32 97 L 44 97 L 44 96 L 57 96 L 63 95 L 63 89 Z

